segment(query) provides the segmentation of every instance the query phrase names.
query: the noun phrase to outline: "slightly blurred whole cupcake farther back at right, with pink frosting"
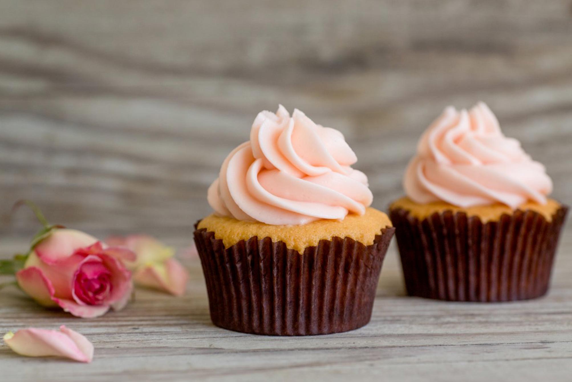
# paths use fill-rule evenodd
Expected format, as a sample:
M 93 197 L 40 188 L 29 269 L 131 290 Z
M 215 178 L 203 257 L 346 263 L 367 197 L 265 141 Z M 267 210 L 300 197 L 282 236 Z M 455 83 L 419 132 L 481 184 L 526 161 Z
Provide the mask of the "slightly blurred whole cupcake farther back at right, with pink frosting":
M 445 109 L 390 206 L 407 292 L 451 301 L 545 294 L 567 207 L 487 105 Z

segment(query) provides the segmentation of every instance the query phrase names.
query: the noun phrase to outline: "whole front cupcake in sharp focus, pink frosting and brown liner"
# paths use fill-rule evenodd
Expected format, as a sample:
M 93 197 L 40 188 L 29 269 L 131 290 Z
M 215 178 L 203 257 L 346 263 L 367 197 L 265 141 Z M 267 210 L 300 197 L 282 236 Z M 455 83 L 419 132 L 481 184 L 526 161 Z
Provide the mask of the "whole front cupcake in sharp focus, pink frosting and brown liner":
M 215 325 L 301 336 L 370 321 L 394 228 L 369 207 L 356 161 L 339 131 L 299 110 L 259 113 L 194 231 Z

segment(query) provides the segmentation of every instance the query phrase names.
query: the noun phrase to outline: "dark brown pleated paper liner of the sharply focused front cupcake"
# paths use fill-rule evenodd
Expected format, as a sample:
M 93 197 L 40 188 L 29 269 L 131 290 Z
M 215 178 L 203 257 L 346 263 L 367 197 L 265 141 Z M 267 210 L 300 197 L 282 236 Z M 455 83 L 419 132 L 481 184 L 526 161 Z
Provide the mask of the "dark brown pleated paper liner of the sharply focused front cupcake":
M 210 318 L 221 328 L 277 336 L 360 328 L 370 321 L 394 231 L 383 229 L 370 246 L 335 237 L 300 254 L 268 237 L 225 249 L 215 233 L 196 230 Z

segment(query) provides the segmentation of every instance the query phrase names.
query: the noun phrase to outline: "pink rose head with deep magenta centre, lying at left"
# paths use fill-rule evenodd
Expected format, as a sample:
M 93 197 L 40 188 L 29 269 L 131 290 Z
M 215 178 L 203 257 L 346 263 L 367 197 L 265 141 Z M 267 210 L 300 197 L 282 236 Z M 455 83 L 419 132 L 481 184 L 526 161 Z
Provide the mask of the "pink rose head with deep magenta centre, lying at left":
M 123 262 L 134 260 L 128 249 L 107 247 L 81 231 L 56 229 L 33 248 L 16 278 L 43 306 L 98 317 L 129 301 L 133 285 Z

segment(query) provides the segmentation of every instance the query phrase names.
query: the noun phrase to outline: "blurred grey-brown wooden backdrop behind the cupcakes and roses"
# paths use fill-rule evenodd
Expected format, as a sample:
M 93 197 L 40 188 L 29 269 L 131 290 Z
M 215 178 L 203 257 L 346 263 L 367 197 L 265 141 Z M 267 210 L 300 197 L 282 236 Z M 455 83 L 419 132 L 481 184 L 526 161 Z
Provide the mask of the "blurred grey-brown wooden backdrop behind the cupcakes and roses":
M 478 100 L 570 202 L 570 0 L 2 0 L 0 235 L 37 229 L 6 217 L 27 198 L 100 237 L 190 242 L 279 103 L 340 129 L 385 208 L 428 123 Z

